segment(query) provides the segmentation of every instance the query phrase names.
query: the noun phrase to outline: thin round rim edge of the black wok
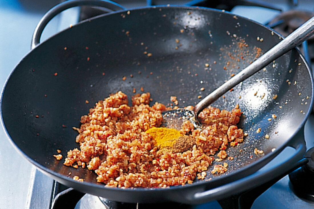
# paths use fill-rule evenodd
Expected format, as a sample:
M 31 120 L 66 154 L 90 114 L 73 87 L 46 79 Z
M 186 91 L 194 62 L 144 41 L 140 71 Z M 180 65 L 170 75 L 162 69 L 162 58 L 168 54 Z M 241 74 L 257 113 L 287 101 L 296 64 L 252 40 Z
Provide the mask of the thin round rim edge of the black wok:
M 233 15 L 233 16 L 237 16 L 237 17 L 240 17 L 241 19 L 245 19 L 247 21 L 250 21 L 250 22 L 253 22 L 254 24 L 257 24 L 259 26 L 262 26 L 263 28 L 266 28 L 268 29 L 269 31 L 273 31 L 274 34 L 280 36 L 281 38 L 284 38 L 283 35 L 279 34 L 278 32 L 274 31 L 273 29 L 269 28 L 268 26 L 265 26 L 261 23 L 258 23 L 257 21 L 254 21 L 252 19 L 249 19 L 249 18 L 246 18 L 246 17 L 243 17 L 241 15 L 237 15 L 237 14 L 234 14 L 234 13 L 231 13 L 231 12 L 227 12 L 227 11 L 222 11 L 222 10 L 219 10 L 219 9 L 213 9 L 213 8 L 205 8 L 205 7 L 196 7 L 196 6 L 185 6 L 185 5 L 159 5 L 159 6 L 144 6 L 144 7 L 138 7 L 138 8 L 132 8 L 132 9 L 127 9 L 127 10 L 119 10 L 119 11 L 113 11 L 113 12 L 110 12 L 110 13 L 105 13 L 105 14 L 101 14 L 101 15 L 98 15 L 98 16 L 95 16 L 95 17 L 92 17 L 92 18 L 89 18 L 89 19 L 86 19 L 86 20 L 83 20 L 75 25 L 73 25 L 72 28 L 78 26 L 78 25 L 81 25 L 81 24 L 88 24 L 89 21 L 93 20 L 93 19 L 98 19 L 98 18 L 104 18 L 106 17 L 107 15 L 114 15 L 116 13 L 125 13 L 127 11 L 135 11 L 135 10 L 145 10 L 145 9 L 159 9 L 159 8 L 165 8 L 165 9 L 191 9 L 191 10 L 195 10 L 195 9 L 200 9 L 200 10 L 205 10 L 205 11 L 209 11 L 209 12 L 217 12 L 217 13 L 227 13 L 228 15 Z M 148 14 L 148 13 L 147 13 Z M 311 114 L 311 109 L 312 109 L 312 105 L 313 105 L 313 96 L 314 96 L 314 88 L 313 88 L 313 74 L 311 72 L 311 68 L 309 67 L 309 64 L 306 62 L 304 56 L 300 53 L 300 51 L 297 49 L 297 48 L 294 48 L 292 50 L 296 50 L 297 53 L 298 53 L 298 56 L 301 57 L 302 61 L 304 62 L 305 66 L 306 66 L 306 69 L 307 71 L 309 72 L 309 75 L 310 75 L 310 80 L 311 80 L 311 87 L 312 87 L 312 91 L 311 91 L 311 102 L 310 102 L 310 105 L 308 106 L 308 111 L 303 119 L 303 121 L 300 123 L 300 125 L 298 126 L 298 128 L 296 129 L 296 131 L 294 132 L 294 134 L 286 140 L 286 142 L 284 144 L 282 144 L 280 147 L 278 147 L 274 152 L 271 152 L 271 153 L 268 153 L 266 154 L 265 156 L 263 156 L 262 158 L 259 158 L 257 159 L 256 161 L 250 163 L 250 164 L 247 164 L 246 166 L 238 169 L 238 170 L 235 170 L 233 171 L 232 173 L 228 174 L 228 175 L 225 175 L 225 176 L 221 176 L 217 179 L 213 179 L 211 181 L 199 181 L 199 182 L 193 182 L 192 184 L 185 184 L 185 185 L 176 185 L 176 186 L 171 186 L 171 187 L 167 187 L 167 188 L 139 188 L 139 187 L 136 187 L 136 188 L 118 188 L 118 187 L 105 187 L 105 184 L 103 183 L 90 183 L 90 182 L 78 182 L 76 180 L 73 180 L 72 178 L 68 178 L 66 175 L 63 175 L 63 174 L 60 174 L 56 171 L 53 171 L 51 169 L 48 169 L 46 168 L 45 166 L 41 165 L 40 163 L 38 163 L 37 161 L 35 161 L 34 159 L 30 158 L 26 153 L 24 153 L 14 142 L 14 140 L 10 137 L 10 134 L 8 133 L 6 127 L 5 127 L 5 124 L 4 124 L 4 120 L 3 120 L 3 114 L 2 114 L 2 103 L 3 103 L 3 95 L 4 95 L 4 90 L 7 86 L 7 83 L 11 77 L 11 75 L 13 74 L 13 72 L 15 71 L 15 69 L 19 66 L 19 64 L 30 54 L 30 53 L 35 53 L 33 51 L 36 50 L 37 47 L 39 46 L 42 46 L 44 45 L 47 41 L 49 41 L 51 38 L 54 38 L 56 35 L 62 33 L 63 31 L 65 30 L 69 30 L 71 28 L 66 28 L 66 29 L 63 29 L 61 31 L 59 31 L 58 33 L 52 35 L 51 37 L 49 37 L 48 39 L 40 42 L 38 45 L 36 45 L 35 48 L 31 49 L 18 63 L 17 65 L 14 67 L 14 69 L 10 72 L 8 78 L 6 79 L 4 85 L 3 85 L 3 88 L 2 88 L 2 91 L 1 91 L 1 97 L 0 97 L 0 114 L 1 114 L 1 117 L 0 117 L 0 121 L 1 121 L 1 124 L 2 124 L 2 127 L 3 127 L 3 130 L 5 132 L 5 134 L 7 135 L 10 143 L 13 145 L 13 147 L 15 148 L 15 150 L 17 150 L 17 152 L 22 155 L 24 158 L 26 158 L 30 163 L 32 163 L 33 165 L 35 165 L 41 172 L 51 176 L 53 179 L 56 179 L 57 181 L 59 181 L 60 179 L 63 180 L 63 181 L 70 181 L 71 184 L 78 184 L 78 185 L 84 185 L 84 186 L 89 186 L 89 187 L 96 187 L 98 189 L 105 189 L 105 190 L 112 190 L 112 191 L 125 191 L 125 192 L 129 192 L 129 191 L 132 191 L 133 193 L 134 192 L 137 192 L 137 193 L 141 193 L 141 192 L 153 192 L 153 191 L 173 191 L 173 190 L 185 190 L 185 189 L 192 189 L 192 188 L 197 188 L 197 187 L 200 187 L 200 185 L 204 186 L 204 185 L 207 185 L 208 182 L 212 182 L 212 181 L 218 181 L 218 180 L 224 180 L 228 177 L 230 177 L 231 175 L 234 176 L 236 174 L 238 174 L 239 172 L 245 172 L 247 169 L 250 169 L 251 167 L 255 166 L 256 164 L 261 164 L 261 162 L 263 161 L 267 161 L 267 163 L 273 159 L 275 156 L 277 156 L 279 153 L 281 153 L 281 151 L 287 147 L 287 146 L 292 146 L 293 147 L 293 139 L 296 135 L 296 133 L 298 133 L 303 127 L 304 127 L 304 124 L 305 122 L 307 121 L 309 115 Z M 294 147 L 295 148 L 295 147 Z M 266 163 L 266 164 L 267 164 Z M 259 167 L 259 169 L 263 168 L 265 165 Z M 258 169 L 257 169 L 258 170 Z M 251 174 L 249 175 L 246 175 L 246 176 L 250 176 Z M 245 177 L 246 177 L 245 176 Z M 242 177 L 244 178 L 244 177 Z M 239 179 L 242 179 L 242 178 L 237 178 L 236 180 L 239 180 Z M 236 181 L 234 180 L 234 181 Z M 234 182 L 234 181 L 231 181 L 231 182 Z M 221 184 L 221 185 L 225 185 L 225 184 L 228 184 L 228 183 L 224 183 L 224 184 Z M 69 185 L 69 184 L 68 184 Z M 209 188 L 210 189 L 214 189 L 216 187 L 212 187 L 212 188 Z M 76 189 L 76 188 L 75 188 Z

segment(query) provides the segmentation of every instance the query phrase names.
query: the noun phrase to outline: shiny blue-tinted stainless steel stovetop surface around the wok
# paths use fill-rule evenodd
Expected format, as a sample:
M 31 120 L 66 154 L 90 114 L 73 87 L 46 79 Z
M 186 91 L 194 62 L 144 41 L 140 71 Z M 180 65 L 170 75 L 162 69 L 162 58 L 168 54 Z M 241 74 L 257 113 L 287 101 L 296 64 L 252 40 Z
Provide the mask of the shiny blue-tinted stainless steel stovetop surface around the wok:
M 146 1 L 116 1 L 126 8 L 145 6 Z M 154 1 L 156 4 L 181 4 L 188 1 Z M 294 7 L 292 0 L 280 0 L 272 3 L 283 11 L 302 9 L 314 11 L 312 0 L 303 0 Z M 0 1 L 0 86 L 3 87 L 9 73 L 15 65 L 30 51 L 30 40 L 36 24 L 43 14 L 59 1 L 40 0 L 1 0 Z M 236 6 L 233 13 L 248 17 L 263 24 L 268 23 L 280 12 L 272 9 L 248 6 Z M 69 9 L 55 17 L 46 27 L 41 40 L 45 40 L 57 31 L 78 21 L 78 8 Z M 307 148 L 314 147 L 314 114 L 305 125 Z M 51 197 L 55 193 L 55 182 L 39 172 L 31 163 L 19 155 L 0 129 L 0 209 L 5 208 L 50 208 Z M 280 163 L 292 155 L 292 149 L 286 149 L 275 161 Z M 218 202 L 210 202 L 195 208 L 220 208 Z M 85 195 L 76 205 L 76 209 L 105 208 L 98 197 Z M 314 202 L 297 197 L 291 190 L 289 178 L 285 176 L 266 192 L 259 196 L 252 208 L 314 208 Z

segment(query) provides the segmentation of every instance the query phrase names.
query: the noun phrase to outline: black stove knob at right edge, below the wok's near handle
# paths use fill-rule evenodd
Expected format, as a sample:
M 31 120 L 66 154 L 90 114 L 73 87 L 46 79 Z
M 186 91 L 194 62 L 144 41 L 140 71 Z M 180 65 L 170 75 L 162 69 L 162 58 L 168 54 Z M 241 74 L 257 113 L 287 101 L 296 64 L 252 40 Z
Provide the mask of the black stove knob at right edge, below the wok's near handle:
M 289 174 L 292 189 L 300 198 L 314 201 L 314 147 L 304 155 L 309 160 Z

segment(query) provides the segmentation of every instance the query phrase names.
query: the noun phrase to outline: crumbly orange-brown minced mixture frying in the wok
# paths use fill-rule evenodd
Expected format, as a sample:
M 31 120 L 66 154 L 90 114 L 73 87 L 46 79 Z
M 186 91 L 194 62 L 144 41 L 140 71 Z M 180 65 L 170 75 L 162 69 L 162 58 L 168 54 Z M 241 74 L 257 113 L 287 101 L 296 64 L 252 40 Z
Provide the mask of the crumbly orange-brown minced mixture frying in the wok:
M 195 138 L 195 144 L 182 153 L 157 152 L 152 137 L 145 133 L 159 127 L 165 105 L 156 102 L 149 106 L 150 94 L 137 94 L 128 106 L 127 95 L 111 94 L 96 103 L 88 115 L 81 117 L 76 142 L 80 149 L 68 151 L 64 165 L 95 170 L 98 182 L 111 187 L 168 187 L 191 184 L 198 176 L 204 179 L 213 155 L 225 150 L 228 142 L 243 141 L 243 131 L 236 124 L 241 110 L 231 112 L 208 107 L 199 118 L 202 129 L 194 129 L 186 121 L 181 133 Z M 221 158 L 225 153 L 221 152 Z M 219 155 L 220 155 L 219 154 Z M 223 173 L 224 166 L 216 166 L 212 173 Z

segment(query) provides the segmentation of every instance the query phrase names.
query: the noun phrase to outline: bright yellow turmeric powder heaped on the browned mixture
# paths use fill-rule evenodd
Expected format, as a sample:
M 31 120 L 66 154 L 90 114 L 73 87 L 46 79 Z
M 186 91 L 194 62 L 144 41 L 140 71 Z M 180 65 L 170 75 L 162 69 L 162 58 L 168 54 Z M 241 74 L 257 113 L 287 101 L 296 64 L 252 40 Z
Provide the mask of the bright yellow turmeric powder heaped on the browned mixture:
M 180 131 L 173 128 L 153 127 L 145 132 L 153 137 L 155 146 L 160 149 L 164 147 L 172 147 L 176 143 L 176 139 L 181 136 Z

